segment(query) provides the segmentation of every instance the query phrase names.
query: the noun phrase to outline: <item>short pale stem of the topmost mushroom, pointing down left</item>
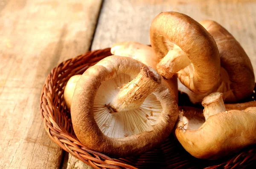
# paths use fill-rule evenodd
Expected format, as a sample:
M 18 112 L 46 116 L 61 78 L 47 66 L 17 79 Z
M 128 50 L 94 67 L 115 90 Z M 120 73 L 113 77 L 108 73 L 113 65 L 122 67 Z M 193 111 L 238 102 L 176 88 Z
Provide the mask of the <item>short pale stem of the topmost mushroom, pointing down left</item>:
M 170 79 L 176 72 L 186 68 L 190 63 L 190 59 L 180 48 L 174 48 L 157 64 L 157 70 L 160 75 Z

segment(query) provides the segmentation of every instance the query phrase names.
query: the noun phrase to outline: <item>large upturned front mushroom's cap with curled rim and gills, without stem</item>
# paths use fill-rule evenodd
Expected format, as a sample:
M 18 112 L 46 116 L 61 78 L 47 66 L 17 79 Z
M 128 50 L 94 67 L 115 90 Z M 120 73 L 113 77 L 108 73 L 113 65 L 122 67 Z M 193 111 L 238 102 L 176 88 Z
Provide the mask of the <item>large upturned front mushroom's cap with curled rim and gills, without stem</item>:
M 108 110 L 106 105 L 116 97 L 116 93 L 122 91 L 121 83 L 129 82 L 124 86 L 129 87 L 130 84 L 136 90 L 140 87 L 140 85 L 137 86 L 131 82 L 134 81 L 132 80 L 134 77 L 141 74 L 140 69 L 144 66 L 141 62 L 129 57 L 109 56 L 83 73 L 77 82 L 71 104 L 73 128 L 81 143 L 90 149 L 121 157 L 143 153 L 160 144 L 170 134 L 177 120 L 177 103 L 174 93 L 169 90 L 163 80 L 154 92 L 148 95 L 149 99 L 147 97 L 139 108 L 130 112 L 113 113 Z M 125 78 L 121 78 L 121 76 Z M 153 76 L 158 75 L 154 74 Z M 121 86 L 114 85 L 115 83 L 119 83 Z M 118 87 L 121 87 L 121 89 Z M 147 88 L 147 86 L 145 87 Z M 135 92 L 134 94 L 138 93 Z M 131 93 L 127 96 L 131 99 L 132 95 Z M 139 95 L 136 96 L 140 97 Z M 158 107 L 154 107 L 154 105 Z M 149 113 L 145 109 L 150 110 Z M 152 118 L 154 116 L 157 118 L 150 120 L 150 113 L 152 113 Z M 102 121 L 99 118 L 104 115 L 114 118 L 115 121 L 109 123 L 109 126 L 102 125 Z M 145 117 L 142 117 L 143 115 Z M 132 122 L 128 120 L 118 121 L 121 116 L 125 117 L 122 119 L 133 117 L 134 120 Z M 139 117 L 143 119 L 144 123 L 140 123 Z M 107 120 L 111 121 L 112 118 L 107 118 Z M 135 132 L 130 132 L 127 137 L 125 137 L 126 135 L 122 137 L 120 135 L 111 135 L 114 132 L 108 132 L 109 130 L 107 132 L 105 130 L 105 134 L 102 132 L 106 127 L 112 126 L 112 130 L 119 131 L 122 130 L 122 126 L 128 126 L 128 129 L 131 125 L 134 125 L 133 130 Z M 140 125 L 144 125 L 142 131 L 137 130 Z

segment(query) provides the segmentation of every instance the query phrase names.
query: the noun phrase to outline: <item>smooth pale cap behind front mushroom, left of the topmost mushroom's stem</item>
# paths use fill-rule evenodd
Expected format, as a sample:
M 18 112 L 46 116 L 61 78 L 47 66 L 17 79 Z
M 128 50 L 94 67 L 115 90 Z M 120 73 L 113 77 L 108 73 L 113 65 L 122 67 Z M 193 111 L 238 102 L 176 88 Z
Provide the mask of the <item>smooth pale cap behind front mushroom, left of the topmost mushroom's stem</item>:
M 136 59 L 145 65 L 157 70 L 157 63 L 160 61 L 158 57 L 154 54 L 153 48 L 148 45 L 135 42 L 118 42 L 111 47 L 111 54 L 118 56 L 126 56 Z M 169 87 L 174 91 L 176 96 L 176 101 L 178 101 L 178 87 L 177 78 L 173 77 L 166 80 Z

